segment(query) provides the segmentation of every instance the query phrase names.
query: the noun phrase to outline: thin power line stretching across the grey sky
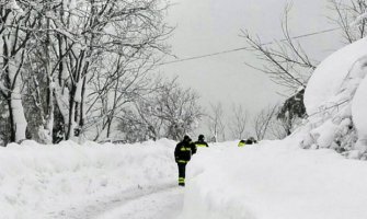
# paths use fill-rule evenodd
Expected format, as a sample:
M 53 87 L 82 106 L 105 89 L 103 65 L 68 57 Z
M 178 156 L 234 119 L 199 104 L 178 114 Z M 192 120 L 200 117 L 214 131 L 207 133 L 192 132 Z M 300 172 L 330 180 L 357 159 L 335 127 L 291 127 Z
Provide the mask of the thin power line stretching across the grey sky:
M 340 28 L 341 27 L 328 28 L 328 30 L 323 30 L 323 31 L 318 31 L 318 32 L 312 32 L 312 33 L 307 33 L 307 34 L 298 35 L 298 36 L 293 36 L 290 38 L 291 39 L 305 38 L 305 37 L 309 37 L 309 36 L 314 36 L 314 35 L 319 35 L 319 34 L 324 34 L 324 33 L 333 32 L 333 31 L 336 31 L 336 30 L 340 30 Z M 279 42 L 285 42 L 285 41 L 287 41 L 287 39 L 283 38 Z M 268 43 L 264 43 L 264 44 L 261 44 L 261 45 L 265 46 L 265 45 L 271 45 L 271 44 L 274 44 L 274 42 L 268 42 Z M 200 59 L 200 58 L 206 58 L 206 57 L 211 57 L 211 56 L 218 56 L 218 55 L 222 55 L 222 54 L 230 54 L 230 53 L 236 53 L 236 51 L 244 50 L 244 49 L 249 49 L 249 48 L 250 47 L 239 47 L 239 48 L 233 48 L 233 49 L 217 51 L 217 53 L 213 53 L 213 54 L 206 54 L 206 55 L 200 55 L 200 56 L 193 56 L 193 57 L 182 58 L 182 59 L 177 59 L 177 60 L 173 60 L 173 61 L 165 61 L 165 62 L 159 64 L 158 66 L 164 66 L 164 65 L 169 65 L 169 64 L 183 62 L 183 61 L 188 61 L 188 60 L 194 60 L 194 59 Z

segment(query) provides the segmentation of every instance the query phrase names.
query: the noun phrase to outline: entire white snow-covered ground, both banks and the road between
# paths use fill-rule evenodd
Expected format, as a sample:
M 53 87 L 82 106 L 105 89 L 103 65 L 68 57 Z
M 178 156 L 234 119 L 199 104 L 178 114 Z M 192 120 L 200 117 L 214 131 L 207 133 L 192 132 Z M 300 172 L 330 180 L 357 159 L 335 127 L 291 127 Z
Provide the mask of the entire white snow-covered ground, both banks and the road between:
M 297 137 L 199 148 L 176 186 L 175 142 L 0 148 L 2 219 L 366 219 L 367 162 Z

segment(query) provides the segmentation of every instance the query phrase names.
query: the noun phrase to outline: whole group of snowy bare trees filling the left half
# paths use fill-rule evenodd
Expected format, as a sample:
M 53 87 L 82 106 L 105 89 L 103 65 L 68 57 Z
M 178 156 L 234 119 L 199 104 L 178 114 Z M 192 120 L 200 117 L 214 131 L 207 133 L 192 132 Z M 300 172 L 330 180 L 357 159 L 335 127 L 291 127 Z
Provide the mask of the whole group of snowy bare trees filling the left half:
M 200 115 L 196 94 L 174 82 L 158 88 L 150 73 L 169 53 L 167 7 L 160 0 L 1 1 L 2 141 L 108 138 L 117 124 L 124 126 L 128 108 L 141 112 L 147 104 L 159 107 L 157 101 L 172 100 L 180 106 L 159 108 L 168 122 L 164 135 L 177 138 L 176 129 L 190 129 Z M 152 93 L 167 100 L 142 101 Z M 139 115 L 159 137 L 154 120 Z M 180 119 L 185 124 L 176 124 Z

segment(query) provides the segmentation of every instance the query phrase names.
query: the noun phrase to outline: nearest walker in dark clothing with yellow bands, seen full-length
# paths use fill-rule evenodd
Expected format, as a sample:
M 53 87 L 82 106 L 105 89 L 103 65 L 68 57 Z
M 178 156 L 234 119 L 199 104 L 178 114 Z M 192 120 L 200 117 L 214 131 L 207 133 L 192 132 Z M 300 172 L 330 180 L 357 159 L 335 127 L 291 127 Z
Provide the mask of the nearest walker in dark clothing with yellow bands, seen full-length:
M 179 185 L 185 186 L 185 172 L 186 164 L 191 160 L 191 157 L 196 153 L 196 147 L 188 136 L 177 143 L 174 149 L 174 159 L 179 166 Z

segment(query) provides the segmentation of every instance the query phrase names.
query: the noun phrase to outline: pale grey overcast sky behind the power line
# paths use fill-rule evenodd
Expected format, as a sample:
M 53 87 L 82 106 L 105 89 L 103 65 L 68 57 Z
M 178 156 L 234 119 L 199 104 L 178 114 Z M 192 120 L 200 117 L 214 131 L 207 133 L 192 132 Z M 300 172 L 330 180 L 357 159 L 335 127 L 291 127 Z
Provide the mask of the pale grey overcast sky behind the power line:
M 176 26 L 169 39 L 180 59 L 245 46 L 240 30 L 257 34 L 263 42 L 282 38 L 280 19 L 286 0 L 172 0 L 168 21 Z M 289 2 L 289 1 L 288 1 Z M 326 15 L 328 0 L 294 0 L 290 16 L 293 35 L 334 27 Z M 322 60 L 341 47 L 339 33 L 301 41 L 306 50 Z M 168 60 L 174 60 L 170 58 Z M 185 87 L 196 90 L 204 106 L 221 102 L 230 116 L 232 103 L 250 114 L 284 100 L 280 88 L 267 76 L 243 62 L 259 64 L 253 54 L 237 51 L 160 67 L 164 76 L 179 76 Z

